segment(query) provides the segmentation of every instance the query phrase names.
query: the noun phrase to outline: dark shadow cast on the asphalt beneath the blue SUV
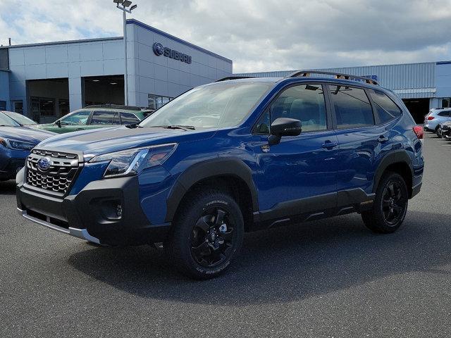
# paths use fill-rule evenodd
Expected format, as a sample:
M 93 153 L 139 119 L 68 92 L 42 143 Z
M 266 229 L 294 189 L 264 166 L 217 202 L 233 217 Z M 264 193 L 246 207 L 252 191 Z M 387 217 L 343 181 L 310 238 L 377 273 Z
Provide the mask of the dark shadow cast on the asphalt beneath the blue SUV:
M 189 280 L 148 246 L 86 246 L 69 263 L 124 292 L 149 299 L 246 305 L 289 302 L 410 272 L 450 274 L 450 215 L 410 211 L 395 234 L 373 234 L 347 215 L 246 235 L 221 277 Z M 428 220 L 424 224 L 421 220 Z

